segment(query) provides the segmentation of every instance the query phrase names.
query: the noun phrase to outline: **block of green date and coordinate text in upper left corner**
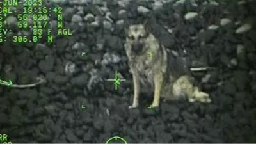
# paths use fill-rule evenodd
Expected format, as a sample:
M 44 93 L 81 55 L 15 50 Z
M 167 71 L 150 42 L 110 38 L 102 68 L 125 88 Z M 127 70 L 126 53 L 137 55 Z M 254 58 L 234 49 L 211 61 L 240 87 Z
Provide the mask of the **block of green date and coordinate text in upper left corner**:
M 56 36 L 72 35 L 63 22 L 63 8 L 60 6 L 45 6 L 43 0 L 4 0 L 0 2 L 0 42 L 14 43 L 40 42 L 42 39 L 52 43 L 53 33 Z M 49 19 L 54 17 L 56 24 Z M 16 26 L 15 26 L 16 25 Z M 52 31 L 52 27 L 57 29 Z M 22 30 L 22 33 L 15 33 Z M 28 33 L 32 33 L 29 35 Z

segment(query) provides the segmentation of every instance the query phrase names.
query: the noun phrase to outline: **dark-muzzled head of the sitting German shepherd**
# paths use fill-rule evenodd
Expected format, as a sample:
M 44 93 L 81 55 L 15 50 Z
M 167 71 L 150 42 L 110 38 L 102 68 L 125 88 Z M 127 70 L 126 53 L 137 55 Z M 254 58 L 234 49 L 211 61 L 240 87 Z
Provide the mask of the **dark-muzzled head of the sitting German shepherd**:
M 147 38 L 149 36 L 148 30 L 145 28 L 144 24 L 134 24 L 126 29 L 127 33 L 127 43 L 131 45 L 131 52 L 134 54 L 141 54 L 145 52 L 147 47 Z

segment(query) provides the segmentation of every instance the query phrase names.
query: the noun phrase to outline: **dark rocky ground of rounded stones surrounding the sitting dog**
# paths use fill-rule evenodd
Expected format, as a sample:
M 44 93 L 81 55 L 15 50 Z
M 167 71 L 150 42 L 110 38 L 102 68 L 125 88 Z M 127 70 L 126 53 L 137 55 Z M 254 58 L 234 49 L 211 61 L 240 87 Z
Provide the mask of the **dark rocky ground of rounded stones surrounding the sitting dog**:
M 0 86 L 0 134 L 13 143 L 256 143 L 256 2 L 228 0 L 54 0 L 72 36 L 53 45 L 0 45 L 0 77 L 36 88 Z M 183 52 L 211 104 L 161 102 L 128 109 L 132 76 L 124 26 L 156 17 L 157 37 Z M 53 19 L 53 18 L 52 18 Z M 52 28 L 56 21 L 52 20 Z M 86 52 L 86 56 L 81 56 Z M 115 91 L 115 71 L 127 79 Z M 86 109 L 81 108 L 81 104 Z

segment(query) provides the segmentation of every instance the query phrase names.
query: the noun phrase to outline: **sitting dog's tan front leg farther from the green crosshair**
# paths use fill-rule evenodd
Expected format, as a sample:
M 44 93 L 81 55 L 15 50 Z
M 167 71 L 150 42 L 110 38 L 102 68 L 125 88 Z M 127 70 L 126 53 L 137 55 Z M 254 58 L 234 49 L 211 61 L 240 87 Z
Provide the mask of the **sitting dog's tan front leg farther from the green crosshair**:
M 154 100 L 152 103 L 152 107 L 158 107 L 159 106 L 159 100 L 160 100 L 160 95 L 161 95 L 161 88 L 163 84 L 163 73 L 159 72 L 154 76 L 154 85 L 155 85 L 155 90 L 154 90 Z

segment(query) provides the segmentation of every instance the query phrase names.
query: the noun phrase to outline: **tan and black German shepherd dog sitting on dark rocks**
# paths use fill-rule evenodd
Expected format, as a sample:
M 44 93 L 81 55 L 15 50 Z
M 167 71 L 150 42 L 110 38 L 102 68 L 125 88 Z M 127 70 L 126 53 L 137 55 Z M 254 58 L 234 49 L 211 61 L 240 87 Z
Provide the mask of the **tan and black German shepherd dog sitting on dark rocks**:
M 188 99 L 189 102 L 211 102 L 209 94 L 195 86 L 184 58 L 175 56 L 159 43 L 145 24 L 133 24 L 126 30 L 125 52 L 132 72 L 134 97 L 129 108 L 139 106 L 141 84 L 154 88 L 152 108 L 166 100 Z

